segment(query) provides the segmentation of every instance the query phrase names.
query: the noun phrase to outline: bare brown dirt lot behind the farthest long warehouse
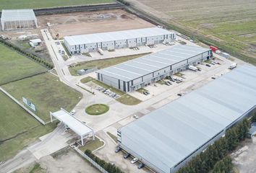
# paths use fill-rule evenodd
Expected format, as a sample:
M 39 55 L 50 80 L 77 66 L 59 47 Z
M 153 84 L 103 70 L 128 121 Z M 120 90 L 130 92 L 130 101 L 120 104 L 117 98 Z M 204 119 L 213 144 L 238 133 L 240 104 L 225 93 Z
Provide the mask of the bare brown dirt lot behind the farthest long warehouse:
M 50 22 L 51 27 L 49 30 L 51 35 L 56 37 L 58 33 L 59 38 L 68 35 L 85 35 L 98 32 L 154 27 L 150 22 L 140 19 L 135 14 L 130 14 L 122 9 L 40 15 L 37 18 L 40 26 L 47 26 L 47 22 Z

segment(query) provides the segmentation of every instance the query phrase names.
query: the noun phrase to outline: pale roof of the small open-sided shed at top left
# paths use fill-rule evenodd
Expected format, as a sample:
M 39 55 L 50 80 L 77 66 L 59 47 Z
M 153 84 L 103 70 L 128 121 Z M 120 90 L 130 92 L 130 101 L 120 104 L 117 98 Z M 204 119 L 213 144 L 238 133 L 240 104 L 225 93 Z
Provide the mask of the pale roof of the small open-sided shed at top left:
M 28 20 L 36 20 L 33 9 L 3 9 L 1 12 L 1 22 Z

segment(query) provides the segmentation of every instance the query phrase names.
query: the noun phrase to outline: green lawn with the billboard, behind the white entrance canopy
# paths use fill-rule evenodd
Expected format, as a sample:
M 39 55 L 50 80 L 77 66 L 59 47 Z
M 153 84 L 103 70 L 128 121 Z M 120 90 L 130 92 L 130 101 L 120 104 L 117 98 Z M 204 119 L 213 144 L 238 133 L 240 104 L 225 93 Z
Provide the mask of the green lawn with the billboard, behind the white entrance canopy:
M 15 81 L 2 87 L 20 102 L 22 97 L 33 102 L 35 114 L 46 122 L 50 120 L 50 111 L 54 112 L 61 107 L 70 111 L 82 98 L 80 92 L 74 91 L 49 73 Z

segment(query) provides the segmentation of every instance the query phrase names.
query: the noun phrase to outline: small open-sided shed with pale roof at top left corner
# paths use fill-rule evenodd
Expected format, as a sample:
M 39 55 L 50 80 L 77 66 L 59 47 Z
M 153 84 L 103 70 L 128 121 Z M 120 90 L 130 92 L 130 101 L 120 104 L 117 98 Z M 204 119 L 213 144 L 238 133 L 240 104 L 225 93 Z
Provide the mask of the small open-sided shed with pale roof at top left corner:
M 33 9 L 3 9 L 1 29 L 17 30 L 38 27 Z

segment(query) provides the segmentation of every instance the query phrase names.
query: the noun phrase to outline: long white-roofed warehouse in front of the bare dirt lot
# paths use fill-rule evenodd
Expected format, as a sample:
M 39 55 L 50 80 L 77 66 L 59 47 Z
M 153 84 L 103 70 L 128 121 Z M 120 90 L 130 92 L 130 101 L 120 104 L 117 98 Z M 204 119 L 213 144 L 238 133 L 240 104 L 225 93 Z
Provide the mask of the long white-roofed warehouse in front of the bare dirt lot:
M 158 43 L 171 43 L 176 34 L 159 27 L 150 27 L 138 30 L 124 30 L 116 32 L 103 32 L 90 35 L 74 35 L 64 37 L 64 44 L 69 53 L 88 53 L 101 50 L 114 50 L 117 48 L 134 48 L 141 45 L 154 45 Z

